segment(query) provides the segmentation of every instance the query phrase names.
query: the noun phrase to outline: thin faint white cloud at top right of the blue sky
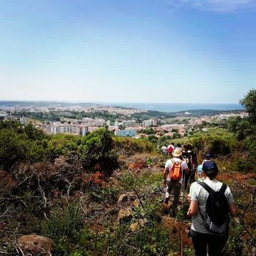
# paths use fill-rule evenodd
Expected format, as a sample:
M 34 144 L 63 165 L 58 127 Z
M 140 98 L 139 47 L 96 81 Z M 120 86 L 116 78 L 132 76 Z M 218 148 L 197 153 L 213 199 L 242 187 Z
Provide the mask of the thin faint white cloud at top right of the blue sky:
M 189 5 L 207 11 L 230 12 L 255 7 L 256 0 L 169 0 L 168 4 L 174 7 Z

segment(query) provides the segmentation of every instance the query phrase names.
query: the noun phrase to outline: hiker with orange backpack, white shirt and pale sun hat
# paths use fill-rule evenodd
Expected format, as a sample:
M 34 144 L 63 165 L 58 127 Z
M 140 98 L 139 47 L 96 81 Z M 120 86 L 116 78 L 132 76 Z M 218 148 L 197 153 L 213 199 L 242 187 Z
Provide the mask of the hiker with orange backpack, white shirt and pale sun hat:
M 169 197 L 171 194 L 171 190 L 174 190 L 174 202 L 172 204 L 171 214 L 176 216 L 176 209 L 179 203 L 179 194 L 181 192 L 181 186 L 183 181 L 183 173 L 188 172 L 188 166 L 185 161 L 181 160 L 182 149 L 175 148 L 172 155 L 173 157 L 166 161 L 166 166 L 163 171 L 163 180 L 166 186 L 166 196 L 164 203 L 169 204 Z M 175 170 L 174 170 L 175 167 Z M 178 170 L 178 171 L 177 171 Z M 172 176 L 174 171 L 177 171 L 178 176 Z

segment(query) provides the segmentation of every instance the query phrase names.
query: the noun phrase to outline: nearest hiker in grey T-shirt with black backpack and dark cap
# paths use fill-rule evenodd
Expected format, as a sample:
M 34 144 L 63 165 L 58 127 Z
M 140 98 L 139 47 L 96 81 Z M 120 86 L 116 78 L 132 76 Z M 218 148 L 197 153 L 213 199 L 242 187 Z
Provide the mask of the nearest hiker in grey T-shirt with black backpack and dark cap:
M 221 255 L 227 242 L 229 214 L 236 217 L 237 208 L 229 187 L 216 179 L 217 164 L 206 161 L 202 169 L 206 178 L 195 185 L 187 215 L 192 217 L 191 238 L 195 255 L 207 256 L 208 245 L 208 255 L 217 256 Z

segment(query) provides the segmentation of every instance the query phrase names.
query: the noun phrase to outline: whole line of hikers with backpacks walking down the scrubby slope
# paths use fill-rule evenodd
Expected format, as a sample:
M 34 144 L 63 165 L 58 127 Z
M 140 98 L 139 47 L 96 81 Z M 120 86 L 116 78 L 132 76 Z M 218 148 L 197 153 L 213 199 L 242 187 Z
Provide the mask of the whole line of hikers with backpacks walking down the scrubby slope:
M 171 148 L 170 152 L 168 148 Z M 163 149 L 165 148 L 161 148 L 162 153 Z M 202 164 L 197 165 L 196 153 L 191 143 L 183 146 L 174 146 L 174 143 L 171 143 L 171 146 L 166 147 L 166 154 L 171 158 L 166 161 L 163 171 L 166 185 L 164 204 L 169 204 L 172 192 L 174 201 L 171 205 L 171 216 L 175 217 L 181 189 L 183 196 L 189 189 L 189 194 L 186 195 L 186 200 L 190 204 L 187 216 L 192 218 L 190 234 L 194 255 L 221 255 L 228 238 L 229 215 L 237 216 L 237 208 L 229 186 L 217 181 L 219 170 L 210 154 L 206 155 Z

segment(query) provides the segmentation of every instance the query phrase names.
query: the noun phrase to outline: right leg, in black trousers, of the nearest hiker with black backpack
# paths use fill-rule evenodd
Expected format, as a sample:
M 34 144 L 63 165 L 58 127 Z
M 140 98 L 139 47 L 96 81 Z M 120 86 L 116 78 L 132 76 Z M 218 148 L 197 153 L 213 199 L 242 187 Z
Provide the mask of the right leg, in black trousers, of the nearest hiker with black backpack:
M 210 234 L 209 239 L 207 241 L 208 248 L 209 248 L 208 255 L 209 256 L 221 255 L 221 252 L 224 246 L 226 245 L 227 237 L 228 237 L 228 233 L 223 235 Z

